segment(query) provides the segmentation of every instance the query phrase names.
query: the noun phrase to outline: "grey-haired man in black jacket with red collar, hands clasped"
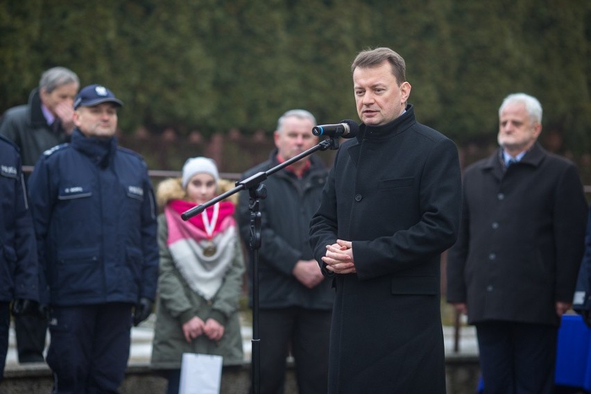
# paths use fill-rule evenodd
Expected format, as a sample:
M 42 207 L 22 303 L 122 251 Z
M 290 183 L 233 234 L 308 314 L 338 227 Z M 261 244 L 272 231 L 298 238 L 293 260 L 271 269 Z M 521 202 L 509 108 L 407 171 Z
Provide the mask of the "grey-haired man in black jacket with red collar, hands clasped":
M 275 146 L 266 162 L 246 171 L 248 178 L 306 151 L 317 143 L 314 116 L 290 110 L 280 117 Z M 314 155 L 264 181 L 259 252 L 260 392 L 282 393 L 288 350 L 295 359 L 300 393 L 327 391 L 332 289 L 323 280 L 308 241 L 309 221 L 320 203 L 327 170 Z M 239 225 L 250 236 L 248 191 L 241 192 Z M 250 262 L 252 272 L 252 262 Z M 251 292 L 252 305 L 252 292 Z

